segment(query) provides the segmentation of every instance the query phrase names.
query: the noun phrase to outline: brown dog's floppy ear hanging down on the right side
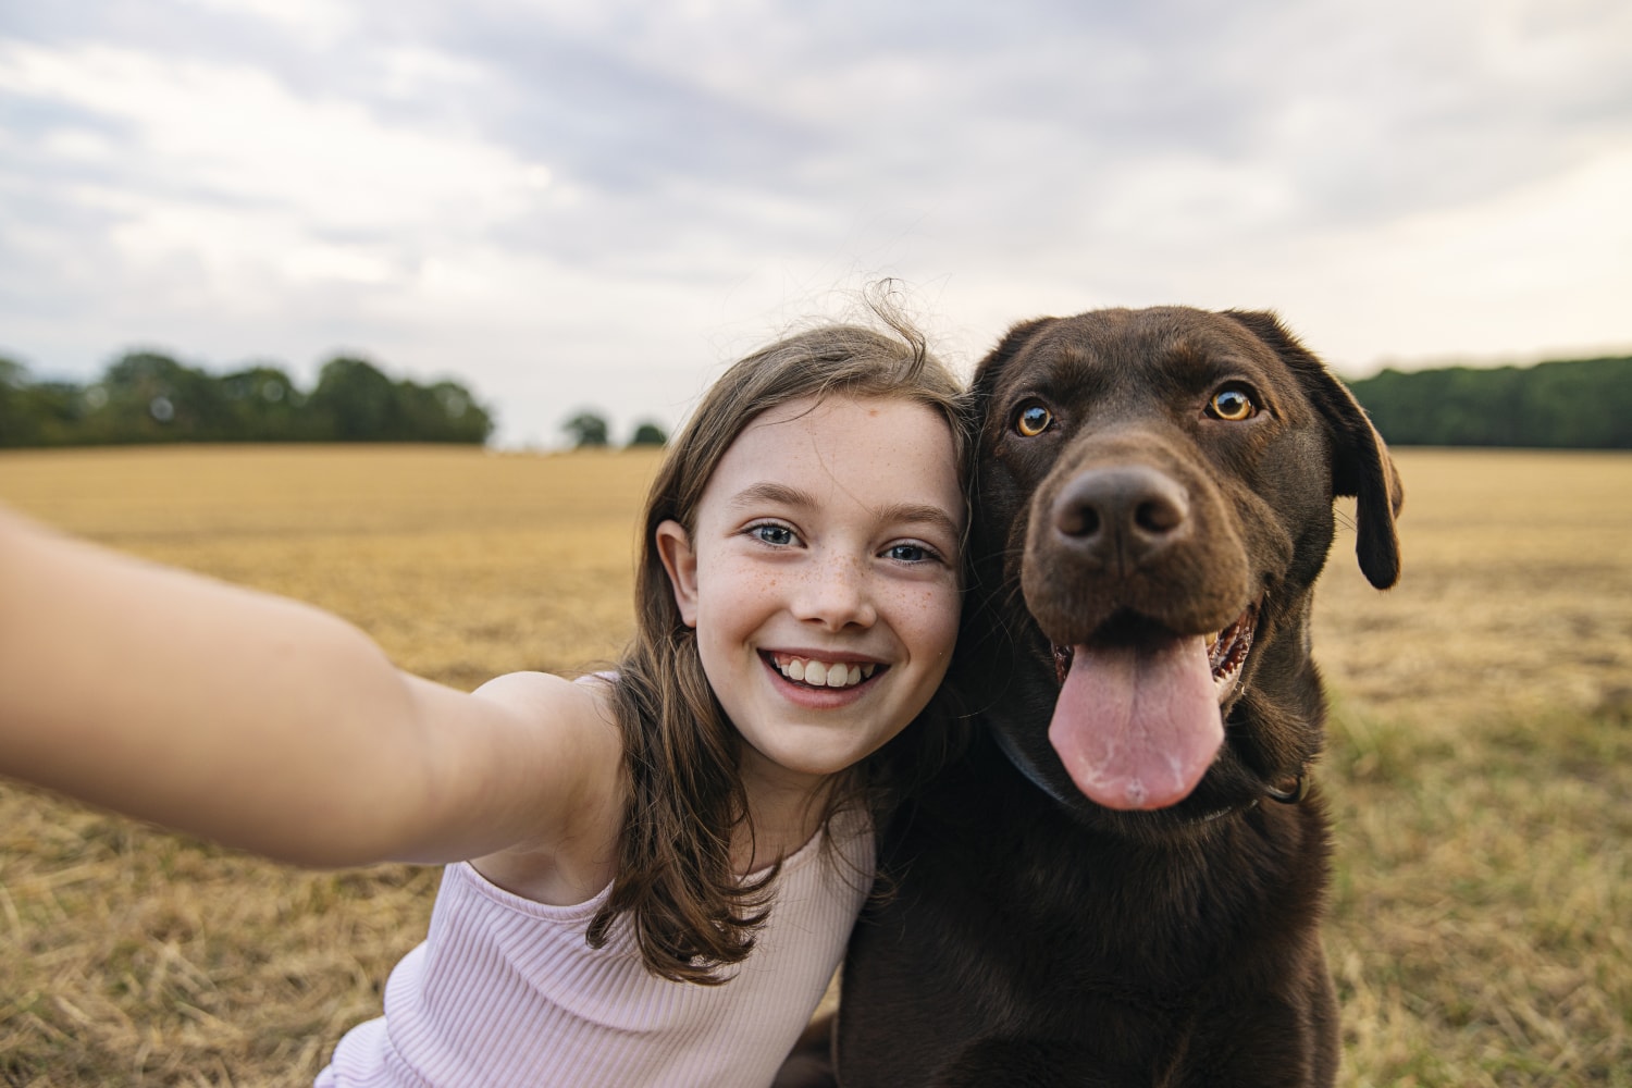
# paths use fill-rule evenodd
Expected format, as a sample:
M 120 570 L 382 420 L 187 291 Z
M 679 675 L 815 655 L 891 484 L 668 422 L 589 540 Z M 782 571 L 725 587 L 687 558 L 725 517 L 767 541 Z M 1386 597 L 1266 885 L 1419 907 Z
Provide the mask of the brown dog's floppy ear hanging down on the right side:
M 1332 432 L 1332 493 L 1355 496 L 1359 569 L 1377 589 L 1400 579 L 1400 540 L 1394 519 L 1405 493 L 1387 447 L 1366 411 L 1342 382 L 1309 349 L 1286 331 L 1273 313 L 1229 310 L 1253 336 L 1268 344 L 1314 401 Z

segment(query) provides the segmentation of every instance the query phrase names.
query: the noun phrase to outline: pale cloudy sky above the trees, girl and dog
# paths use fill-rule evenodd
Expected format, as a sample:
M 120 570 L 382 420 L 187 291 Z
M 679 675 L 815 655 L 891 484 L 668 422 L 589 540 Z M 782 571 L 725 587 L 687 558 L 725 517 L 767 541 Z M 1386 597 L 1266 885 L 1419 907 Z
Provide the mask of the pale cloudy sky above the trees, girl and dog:
M 1279 310 L 1340 372 L 1632 349 L 1624 0 L 0 8 L 0 354 L 455 375 L 666 426 L 873 279 Z

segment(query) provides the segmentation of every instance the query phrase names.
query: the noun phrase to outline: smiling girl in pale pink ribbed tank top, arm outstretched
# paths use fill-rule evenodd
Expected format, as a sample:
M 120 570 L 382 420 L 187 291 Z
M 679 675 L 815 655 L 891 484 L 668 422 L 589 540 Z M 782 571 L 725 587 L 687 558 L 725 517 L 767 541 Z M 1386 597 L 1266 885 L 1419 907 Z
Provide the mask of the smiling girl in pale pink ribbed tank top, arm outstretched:
M 870 812 L 943 739 L 960 405 L 863 328 L 743 359 L 653 483 L 617 670 L 468 695 L 0 511 L 0 772 L 300 865 L 452 863 L 320 1085 L 764 1088 L 867 896 Z

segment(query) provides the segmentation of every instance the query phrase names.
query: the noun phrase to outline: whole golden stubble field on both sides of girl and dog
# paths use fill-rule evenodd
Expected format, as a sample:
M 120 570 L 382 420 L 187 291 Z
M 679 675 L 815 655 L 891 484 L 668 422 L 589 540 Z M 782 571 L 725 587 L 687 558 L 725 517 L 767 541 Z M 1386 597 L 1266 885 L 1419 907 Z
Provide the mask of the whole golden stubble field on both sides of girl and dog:
M 1632 457 L 1402 450 L 1405 576 L 1333 551 L 1343 1085 L 1632 1085 Z M 628 633 L 651 453 L 0 453 L 0 501 L 310 600 L 473 687 Z M 3 607 L 3 605 L 0 605 Z M 162 617 L 155 617 L 155 625 Z M 0 785 L 0 1081 L 300 1085 L 437 873 L 302 873 Z

